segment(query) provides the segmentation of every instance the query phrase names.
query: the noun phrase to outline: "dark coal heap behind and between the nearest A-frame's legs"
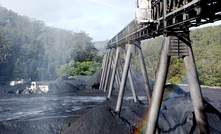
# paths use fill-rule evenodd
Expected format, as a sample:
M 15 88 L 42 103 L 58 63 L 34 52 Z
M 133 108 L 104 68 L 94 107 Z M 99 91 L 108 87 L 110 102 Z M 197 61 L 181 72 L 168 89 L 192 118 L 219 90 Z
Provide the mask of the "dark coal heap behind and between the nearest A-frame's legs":
M 221 133 L 220 112 L 205 99 L 204 108 L 208 118 L 210 133 Z M 158 125 L 161 133 L 198 133 L 189 92 L 183 91 L 177 85 L 166 86 Z

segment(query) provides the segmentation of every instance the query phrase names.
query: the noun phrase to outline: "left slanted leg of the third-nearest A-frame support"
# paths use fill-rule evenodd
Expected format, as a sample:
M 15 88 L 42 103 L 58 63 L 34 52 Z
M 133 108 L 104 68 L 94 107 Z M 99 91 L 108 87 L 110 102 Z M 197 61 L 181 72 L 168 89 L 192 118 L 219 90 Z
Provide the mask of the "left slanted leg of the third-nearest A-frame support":
M 112 72 L 111 81 L 110 81 L 110 88 L 109 88 L 109 92 L 108 92 L 108 97 L 107 98 L 111 97 L 111 93 L 112 93 L 112 90 L 113 90 L 114 76 L 116 74 L 117 62 L 118 62 L 118 58 L 119 58 L 119 49 L 120 49 L 120 47 L 117 47 L 115 63 L 114 63 L 114 67 L 113 67 L 113 72 Z

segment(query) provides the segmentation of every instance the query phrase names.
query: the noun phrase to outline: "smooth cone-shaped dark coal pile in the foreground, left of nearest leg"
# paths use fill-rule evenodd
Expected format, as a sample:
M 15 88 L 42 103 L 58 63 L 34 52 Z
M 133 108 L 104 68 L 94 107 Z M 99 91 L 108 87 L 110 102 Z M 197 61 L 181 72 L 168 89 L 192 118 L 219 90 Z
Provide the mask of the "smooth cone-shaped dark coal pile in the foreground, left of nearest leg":
M 104 120 L 105 119 L 105 120 Z M 71 124 L 63 134 L 129 134 L 130 124 L 108 106 L 99 106 Z

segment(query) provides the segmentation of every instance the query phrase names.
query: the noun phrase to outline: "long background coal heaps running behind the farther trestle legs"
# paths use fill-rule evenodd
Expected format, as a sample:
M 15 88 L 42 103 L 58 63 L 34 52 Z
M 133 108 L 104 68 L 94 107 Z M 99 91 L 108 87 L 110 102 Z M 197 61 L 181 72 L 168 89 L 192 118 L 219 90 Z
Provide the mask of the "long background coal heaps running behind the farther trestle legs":
M 67 92 L 76 92 L 78 90 L 91 90 L 91 89 L 99 89 L 100 79 L 101 79 L 102 69 L 94 73 L 92 76 L 76 76 L 75 78 L 69 79 L 68 76 L 61 76 L 57 78 L 55 81 L 51 82 L 49 85 L 50 93 L 67 93 Z M 110 74 L 112 74 L 112 70 L 110 70 Z M 134 88 L 136 89 L 137 94 L 143 94 L 145 91 L 145 87 L 143 84 L 142 75 L 134 69 L 131 69 L 132 79 L 134 82 Z M 121 77 L 121 75 L 120 75 Z M 111 75 L 109 75 L 108 85 L 109 87 L 111 80 Z M 149 80 L 151 91 L 153 90 L 154 82 Z M 113 94 L 118 94 L 119 87 L 114 82 L 114 90 Z M 131 86 L 129 82 L 129 78 L 127 78 L 126 83 L 126 93 L 128 95 L 131 94 Z

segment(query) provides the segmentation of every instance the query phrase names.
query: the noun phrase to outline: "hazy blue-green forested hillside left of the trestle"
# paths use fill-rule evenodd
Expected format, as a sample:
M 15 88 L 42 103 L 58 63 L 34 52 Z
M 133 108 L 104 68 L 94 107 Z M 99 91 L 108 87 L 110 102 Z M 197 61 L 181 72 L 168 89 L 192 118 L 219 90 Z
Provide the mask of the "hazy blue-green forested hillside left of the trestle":
M 89 67 L 84 66 L 78 74 L 90 74 L 85 71 L 94 65 L 100 68 L 98 63 L 102 61 L 91 40 L 83 31 L 49 27 L 0 6 L 0 82 L 22 78 L 53 80 L 59 75 L 74 75 L 62 65 L 73 67 L 82 62 Z

